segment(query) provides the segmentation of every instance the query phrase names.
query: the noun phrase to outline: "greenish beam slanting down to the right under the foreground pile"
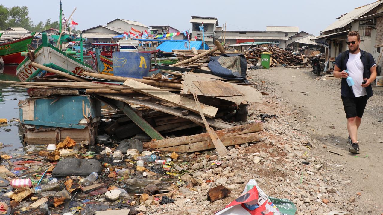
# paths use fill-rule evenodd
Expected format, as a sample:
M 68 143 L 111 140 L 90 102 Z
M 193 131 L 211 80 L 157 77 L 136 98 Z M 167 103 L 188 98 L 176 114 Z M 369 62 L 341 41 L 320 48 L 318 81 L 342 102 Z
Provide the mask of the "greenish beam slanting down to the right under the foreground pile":
M 138 127 L 140 127 L 152 139 L 163 140 L 165 139 L 157 130 L 155 130 L 144 118 L 139 116 L 134 109 L 126 103 L 121 101 L 115 102 L 116 106 L 123 111 Z

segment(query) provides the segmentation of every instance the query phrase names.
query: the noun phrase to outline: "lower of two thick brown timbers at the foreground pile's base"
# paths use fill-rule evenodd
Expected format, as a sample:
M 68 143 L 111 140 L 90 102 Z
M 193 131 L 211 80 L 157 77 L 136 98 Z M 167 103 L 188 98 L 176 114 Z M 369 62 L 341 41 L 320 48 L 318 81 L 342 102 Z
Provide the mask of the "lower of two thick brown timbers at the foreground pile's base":
M 232 146 L 232 145 L 239 145 L 243 143 L 258 142 L 259 134 L 258 132 L 249 133 L 249 134 L 240 134 L 236 136 L 222 138 L 221 141 L 225 147 Z M 196 142 L 196 143 L 191 143 L 186 145 L 159 148 L 158 150 L 187 153 L 187 152 L 194 152 L 194 151 L 203 151 L 203 150 L 208 150 L 212 148 L 214 148 L 213 142 L 211 140 L 206 140 L 206 141 Z

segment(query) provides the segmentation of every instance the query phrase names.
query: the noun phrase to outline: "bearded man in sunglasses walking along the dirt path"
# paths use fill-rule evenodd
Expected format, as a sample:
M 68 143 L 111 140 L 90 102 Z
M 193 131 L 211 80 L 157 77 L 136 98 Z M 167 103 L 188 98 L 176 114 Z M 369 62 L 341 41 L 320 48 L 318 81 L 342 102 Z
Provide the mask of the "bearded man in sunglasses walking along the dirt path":
M 359 49 L 360 35 L 357 31 L 349 32 L 346 43 L 349 50 L 336 57 L 334 77 L 342 78 L 340 94 L 347 118 L 348 141 L 352 145 L 349 152 L 359 154 L 358 128 L 367 99 L 372 96 L 371 83 L 376 78 L 376 64 L 370 53 Z M 347 77 L 352 78 L 354 85 L 346 80 Z

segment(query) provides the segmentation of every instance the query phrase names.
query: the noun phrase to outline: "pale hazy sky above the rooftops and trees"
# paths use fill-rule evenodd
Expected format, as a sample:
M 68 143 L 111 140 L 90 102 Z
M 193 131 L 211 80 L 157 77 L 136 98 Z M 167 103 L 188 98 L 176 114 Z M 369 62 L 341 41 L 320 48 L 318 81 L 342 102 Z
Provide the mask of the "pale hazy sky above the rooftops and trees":
M 179 2 L 179 3 L 178 3 Z M 265 31 L 266 26 L 298 26 L 319 35 L 339 15 L 374 0 L 62 0 L 65 17 L 72 16 L 84 30 L 121 18 L 147 26 L 170 25 L 179 31 L 191 29 L 191 16 L 217 17 L 228 31 Z M 1 0 L 5 7 L 27 6 L 34 24 L 59 18 L 59 0 Z

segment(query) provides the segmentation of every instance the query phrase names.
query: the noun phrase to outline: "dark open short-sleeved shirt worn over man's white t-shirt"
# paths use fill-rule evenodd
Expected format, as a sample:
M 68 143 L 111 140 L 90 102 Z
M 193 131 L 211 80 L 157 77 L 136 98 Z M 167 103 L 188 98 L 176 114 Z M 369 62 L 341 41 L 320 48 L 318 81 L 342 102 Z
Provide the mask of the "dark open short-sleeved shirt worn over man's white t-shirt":
M 342 62 L 342 53 L 340 53 L 336 59 L 335 59 L 335 65 L 340 68 L 340 71 L 347 69 L 347 61 L 350 58 L 350 50 L 345 51 L 346 55 L 344 58 L 344 61 Z M 370 55 L 369 59 L 366 57 L 366 55 Z M 375 65 L 375 60 L 372 57 L 372 54 L 360 50 L 360 60 L 363 63 L 363 78 L 370 78 L 370 68 Z M 372 96 L 372 86 L 371 84 L 366 87 L 367 97 L 370 98 Z M 342 78 L 342 82 L 340 85 L 340 94 L 342 94 L 343 97 L 346 98 L 355 98 L 354 92 L 352 91 L 352 86 L 347 85 L 346 78 Z

